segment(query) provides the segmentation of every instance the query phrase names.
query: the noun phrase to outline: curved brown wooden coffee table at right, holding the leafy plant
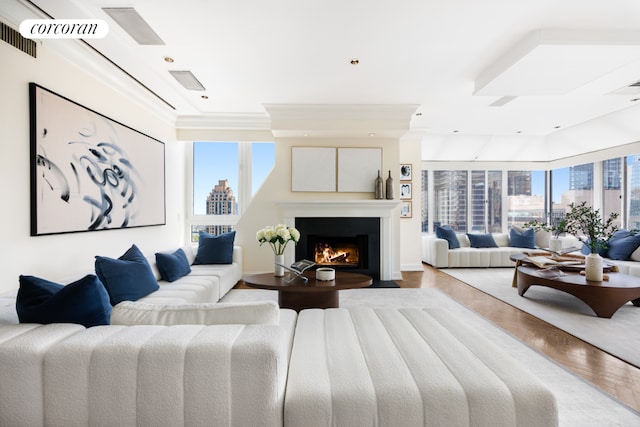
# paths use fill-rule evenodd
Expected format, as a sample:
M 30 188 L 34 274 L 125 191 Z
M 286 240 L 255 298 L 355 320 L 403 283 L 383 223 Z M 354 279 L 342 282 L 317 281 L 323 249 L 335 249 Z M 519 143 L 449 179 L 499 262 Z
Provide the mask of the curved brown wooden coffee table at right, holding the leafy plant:
M 562 276 L 544 277 L 543 270 L 519 266 L 518 295 L 524 296 L 532 285 L 558 289 L 584 301 L 598 317 L 610 318 L 624 304 L 631 301 L 640 306 L 640 277 L 622 273 L 607 273 L 609 280 L 588 281 L 577 272 Z

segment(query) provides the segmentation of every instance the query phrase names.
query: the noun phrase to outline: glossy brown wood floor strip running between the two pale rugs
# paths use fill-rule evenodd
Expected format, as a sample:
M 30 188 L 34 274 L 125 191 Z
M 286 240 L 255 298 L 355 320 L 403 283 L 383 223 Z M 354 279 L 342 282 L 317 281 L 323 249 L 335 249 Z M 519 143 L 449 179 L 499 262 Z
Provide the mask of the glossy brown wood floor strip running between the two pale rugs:
M 402 276 L 403 280 L 398 281 L 400 287 L 440 289 L 528 346 L 640 411 L 640 369 L 429 265 L 423 264 L 423 271 L 403 272 Z M 236 288 L 248 289 L 242 282 Z M 640 351 L 640 343 L 638 348 Z

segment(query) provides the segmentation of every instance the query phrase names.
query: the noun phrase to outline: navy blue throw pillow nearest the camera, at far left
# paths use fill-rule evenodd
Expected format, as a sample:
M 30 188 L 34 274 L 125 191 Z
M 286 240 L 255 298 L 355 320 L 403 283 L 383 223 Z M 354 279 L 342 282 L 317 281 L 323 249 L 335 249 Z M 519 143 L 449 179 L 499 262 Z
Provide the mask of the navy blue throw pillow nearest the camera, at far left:
M 20 276 L 16 311 L 20 323 L 77 323 L 87 328 L 108 325 L 111 318 L 109 294 L 93 274 L 66 286 Z

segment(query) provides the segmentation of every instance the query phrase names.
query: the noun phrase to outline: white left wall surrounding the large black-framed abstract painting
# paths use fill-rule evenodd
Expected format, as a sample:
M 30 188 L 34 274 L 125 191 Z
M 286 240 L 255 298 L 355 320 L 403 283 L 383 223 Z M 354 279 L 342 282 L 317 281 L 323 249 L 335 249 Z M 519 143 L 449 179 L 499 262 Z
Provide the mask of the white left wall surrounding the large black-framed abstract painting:
M 38 46 L 34 59 L 0 42 L 0 62 L 0 292 L 16 289 L 20 274 L 59 280 L 91 272 L 95 255 L 117 257 L 133 243 L 148 255 L 182 244 L 184 152 L 173 123 L 81 72 L 46 45 Z M 30 236 L 29 82 L 165 142 L 166 226 Z

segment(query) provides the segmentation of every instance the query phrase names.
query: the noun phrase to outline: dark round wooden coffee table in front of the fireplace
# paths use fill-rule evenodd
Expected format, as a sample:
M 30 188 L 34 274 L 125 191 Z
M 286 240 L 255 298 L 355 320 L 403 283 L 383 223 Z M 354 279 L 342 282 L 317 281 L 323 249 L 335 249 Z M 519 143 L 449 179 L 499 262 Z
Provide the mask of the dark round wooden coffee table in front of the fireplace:
M 246 276 L 243 280 L 252 288 L 278 291 L 280 307 L 295 311 L 305 308 L 338 308 L 338 291 L 365 288 L 373 283 L 370 276 L 344 271 L 336 271 L 336 278 L 329 281 L 316 280 L 315 271 L 306 271 L 304 276 L 307 277 L 307 282 L 296 279 L 287 283 L 283 277 L 276 277 L 273 273 Z

